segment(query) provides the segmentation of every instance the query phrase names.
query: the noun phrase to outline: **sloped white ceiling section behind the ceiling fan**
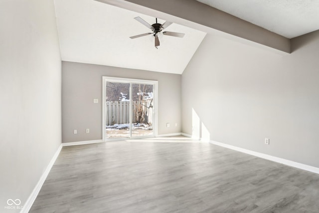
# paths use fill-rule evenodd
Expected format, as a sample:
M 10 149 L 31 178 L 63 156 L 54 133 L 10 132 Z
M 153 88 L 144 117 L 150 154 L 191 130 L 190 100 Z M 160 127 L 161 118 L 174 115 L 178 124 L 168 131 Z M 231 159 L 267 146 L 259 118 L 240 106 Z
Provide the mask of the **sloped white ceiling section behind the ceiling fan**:
M 173 23 L 167 31 L 182 32 L 185 36 L 164 35 L 156 49 L 153 35 L 129 38 L 151 32 L 134 17 L 140 16 L 150 24 L 155 23 L 154 17 L 95 0 L 54 2 L 64 61 L 181 74 L 206 35 Z

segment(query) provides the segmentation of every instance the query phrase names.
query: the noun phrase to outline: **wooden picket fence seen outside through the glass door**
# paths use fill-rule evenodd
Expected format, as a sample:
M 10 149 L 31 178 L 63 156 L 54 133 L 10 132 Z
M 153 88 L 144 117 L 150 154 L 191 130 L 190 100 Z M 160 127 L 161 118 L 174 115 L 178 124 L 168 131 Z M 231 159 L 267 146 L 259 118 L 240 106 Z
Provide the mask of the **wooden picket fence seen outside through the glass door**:
M 133 101 L 133 123 L 137 122 L 136 108 L 139 101 Z M 143 110 L 146 111 L 145 121 L 152 123 L 153 108 L 150 106 L 151 100 L 143 101 Z M 130 102 L 129 101 L 106 101 L 106 125 L 128 124 L 130 123 Z

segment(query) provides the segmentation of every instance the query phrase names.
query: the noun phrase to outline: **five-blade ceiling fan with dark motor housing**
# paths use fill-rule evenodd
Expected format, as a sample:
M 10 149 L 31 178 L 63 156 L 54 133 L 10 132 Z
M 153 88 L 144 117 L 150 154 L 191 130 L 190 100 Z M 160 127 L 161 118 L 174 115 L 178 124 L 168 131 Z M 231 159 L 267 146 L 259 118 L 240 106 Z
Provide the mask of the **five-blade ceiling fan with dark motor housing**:
M 159 32 L 162 32 L 163 29 L 165 29 L 167 26 L 169 26 L 170 24 L 172 24 L 172 22 L 169 21 L 165 21 L 163 24 L 158 23 L 158 18 L 156 18 L 156 23 L 154 24 L 149 24 L 148 22 L 146 22 L 143 18 L 141 17 L 135 17 L 135 20 L 139 21 L 140 23 L 142 23 L 143 25 L 145 25 L 146 27 L 152 29 L 153 32 L 147 32 L 147 33 L 143 33 L 140 35 L 135 35 L 135 36 L 131 36 L 130 38 L 138 38 L 138 37 L 142 37 L 142 36 L 146 36 L 146 35 L 150 35 L 153 34 L 155 37 L 155 47 L 158 48 L 158 46 L 160 46 L 160 39 L 158 36 Z M 174 37 L 179 37 L 182 38 L 184 37 L 184 33 L 180 33 L 180 32 L 169 32 L 169 31 L 163 31 L 162 32 L 163 35 L 170 35 L 170 36 L 174 36 Z

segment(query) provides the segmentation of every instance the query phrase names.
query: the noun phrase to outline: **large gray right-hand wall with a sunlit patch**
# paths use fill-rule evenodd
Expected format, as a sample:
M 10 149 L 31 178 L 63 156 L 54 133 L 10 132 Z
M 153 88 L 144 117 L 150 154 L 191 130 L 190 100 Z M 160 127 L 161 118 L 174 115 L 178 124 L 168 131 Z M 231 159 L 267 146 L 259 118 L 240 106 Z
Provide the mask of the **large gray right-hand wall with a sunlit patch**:
M 280 56 L 207 34 L 182 74 L 182 132 L 319 167 L 319 31 L 292 47 Z

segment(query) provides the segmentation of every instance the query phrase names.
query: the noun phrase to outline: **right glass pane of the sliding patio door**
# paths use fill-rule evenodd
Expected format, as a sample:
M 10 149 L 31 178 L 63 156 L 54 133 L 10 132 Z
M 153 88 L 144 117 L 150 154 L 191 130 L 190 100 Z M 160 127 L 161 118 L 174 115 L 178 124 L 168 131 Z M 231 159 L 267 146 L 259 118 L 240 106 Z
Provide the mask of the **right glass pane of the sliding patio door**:
M 132 83 L 132 137 L 153 135 L 153 84 Z

